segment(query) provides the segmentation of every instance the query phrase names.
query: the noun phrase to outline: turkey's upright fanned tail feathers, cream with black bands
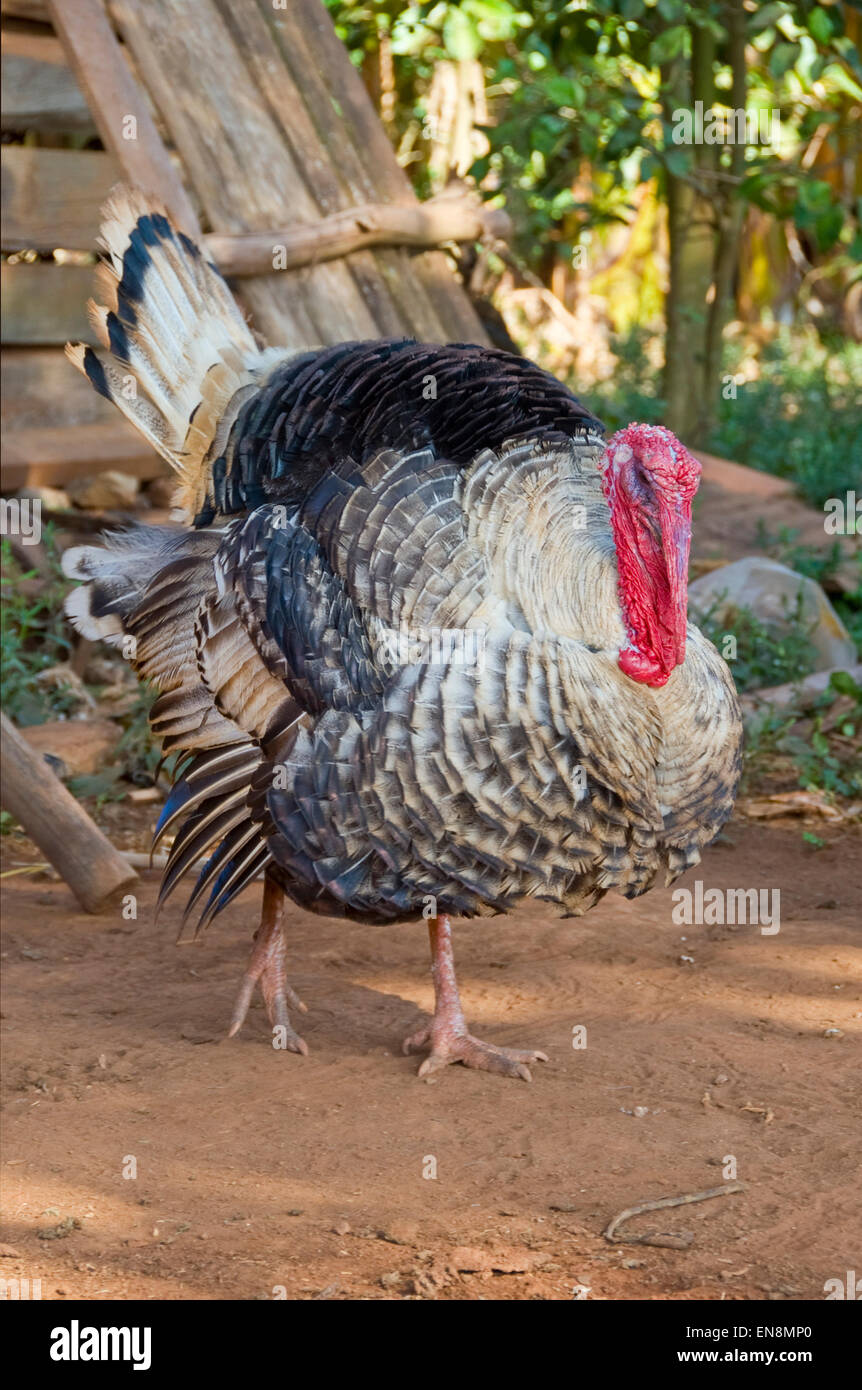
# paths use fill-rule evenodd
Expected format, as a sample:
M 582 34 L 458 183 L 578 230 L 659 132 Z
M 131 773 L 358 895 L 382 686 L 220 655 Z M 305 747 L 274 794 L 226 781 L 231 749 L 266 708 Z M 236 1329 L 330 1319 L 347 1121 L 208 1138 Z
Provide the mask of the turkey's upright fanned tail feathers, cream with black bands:
M 193 518 L 247 388 L 284 353 L 257 346 L 216 265 L 150 197 L 115 188 L 99 240 L 103 302 L 88 309 L 107 350 L 67 343 L 67 357 L 167 459 Z

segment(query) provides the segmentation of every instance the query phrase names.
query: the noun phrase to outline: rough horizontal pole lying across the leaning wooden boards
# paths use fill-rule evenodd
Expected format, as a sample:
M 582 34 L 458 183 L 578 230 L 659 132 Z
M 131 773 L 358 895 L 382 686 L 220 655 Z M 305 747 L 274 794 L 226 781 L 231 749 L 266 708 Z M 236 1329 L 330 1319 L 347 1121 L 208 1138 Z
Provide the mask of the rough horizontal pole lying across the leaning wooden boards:
M 505 236 L 505 213 L 484 213 L 475 199 L 439 197 L 413 206 L 367 203 L 334 213 L 320 222 L 292 222 L 243 236 L 210 234 L 206 247 L 224 275 L 264 275 L 334 260 L 366 246 L 439 246 L 474 242 L 485 234 Z

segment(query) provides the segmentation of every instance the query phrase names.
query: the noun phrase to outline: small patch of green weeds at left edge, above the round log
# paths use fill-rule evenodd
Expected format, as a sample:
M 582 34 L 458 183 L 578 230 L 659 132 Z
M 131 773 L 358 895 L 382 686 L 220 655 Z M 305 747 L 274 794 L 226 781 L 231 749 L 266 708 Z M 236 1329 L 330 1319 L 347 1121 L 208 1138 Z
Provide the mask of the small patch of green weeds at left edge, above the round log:
M 68 687 L 40 685 L 39 673 L 67 660 L 70 641 L 63 617 L 67 581 L 43 531 L 50 574 L 25 571 L 8 541 L 0 546 L 0 703 L 15 723 L 42 724 L 68 714 L 76 705 Z

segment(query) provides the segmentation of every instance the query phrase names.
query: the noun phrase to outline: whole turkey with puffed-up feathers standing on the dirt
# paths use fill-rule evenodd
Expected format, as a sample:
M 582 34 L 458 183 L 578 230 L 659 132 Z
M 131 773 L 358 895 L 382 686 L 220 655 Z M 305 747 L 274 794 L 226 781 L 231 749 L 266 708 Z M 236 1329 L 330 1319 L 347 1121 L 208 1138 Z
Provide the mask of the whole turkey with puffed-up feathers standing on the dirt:
M 261 349 L 216 267 L 128 189 L 101 245 L 104 350 L 67 353 L 167 459 L 184 525 L 68 550 L 67 612 L 158 692 L 177 755 L 160 903 L 197 866 L 185 910 L 204 927 L 263 876 L 229 1033 L 260 987 L 295 1052 L 285 895 L 424 917 L 420 1074 L 530 1080 L 542 1052 L 467 1031 L 450 919 L 637 897 L 731 810 L 737 696 L 687 624 L 698 463 L 659 427 L 605 442 L 496 349 Z

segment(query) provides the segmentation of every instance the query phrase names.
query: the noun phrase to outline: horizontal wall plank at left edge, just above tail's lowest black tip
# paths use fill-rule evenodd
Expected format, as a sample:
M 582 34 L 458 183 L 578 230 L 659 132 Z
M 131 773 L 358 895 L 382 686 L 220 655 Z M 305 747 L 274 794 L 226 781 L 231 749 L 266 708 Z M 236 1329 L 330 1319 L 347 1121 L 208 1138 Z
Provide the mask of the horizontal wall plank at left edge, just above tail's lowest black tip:
M 86 314 L 92 265 L 47 261 L 0 267 L 0 339 L 4 343 L 96 343 Z

